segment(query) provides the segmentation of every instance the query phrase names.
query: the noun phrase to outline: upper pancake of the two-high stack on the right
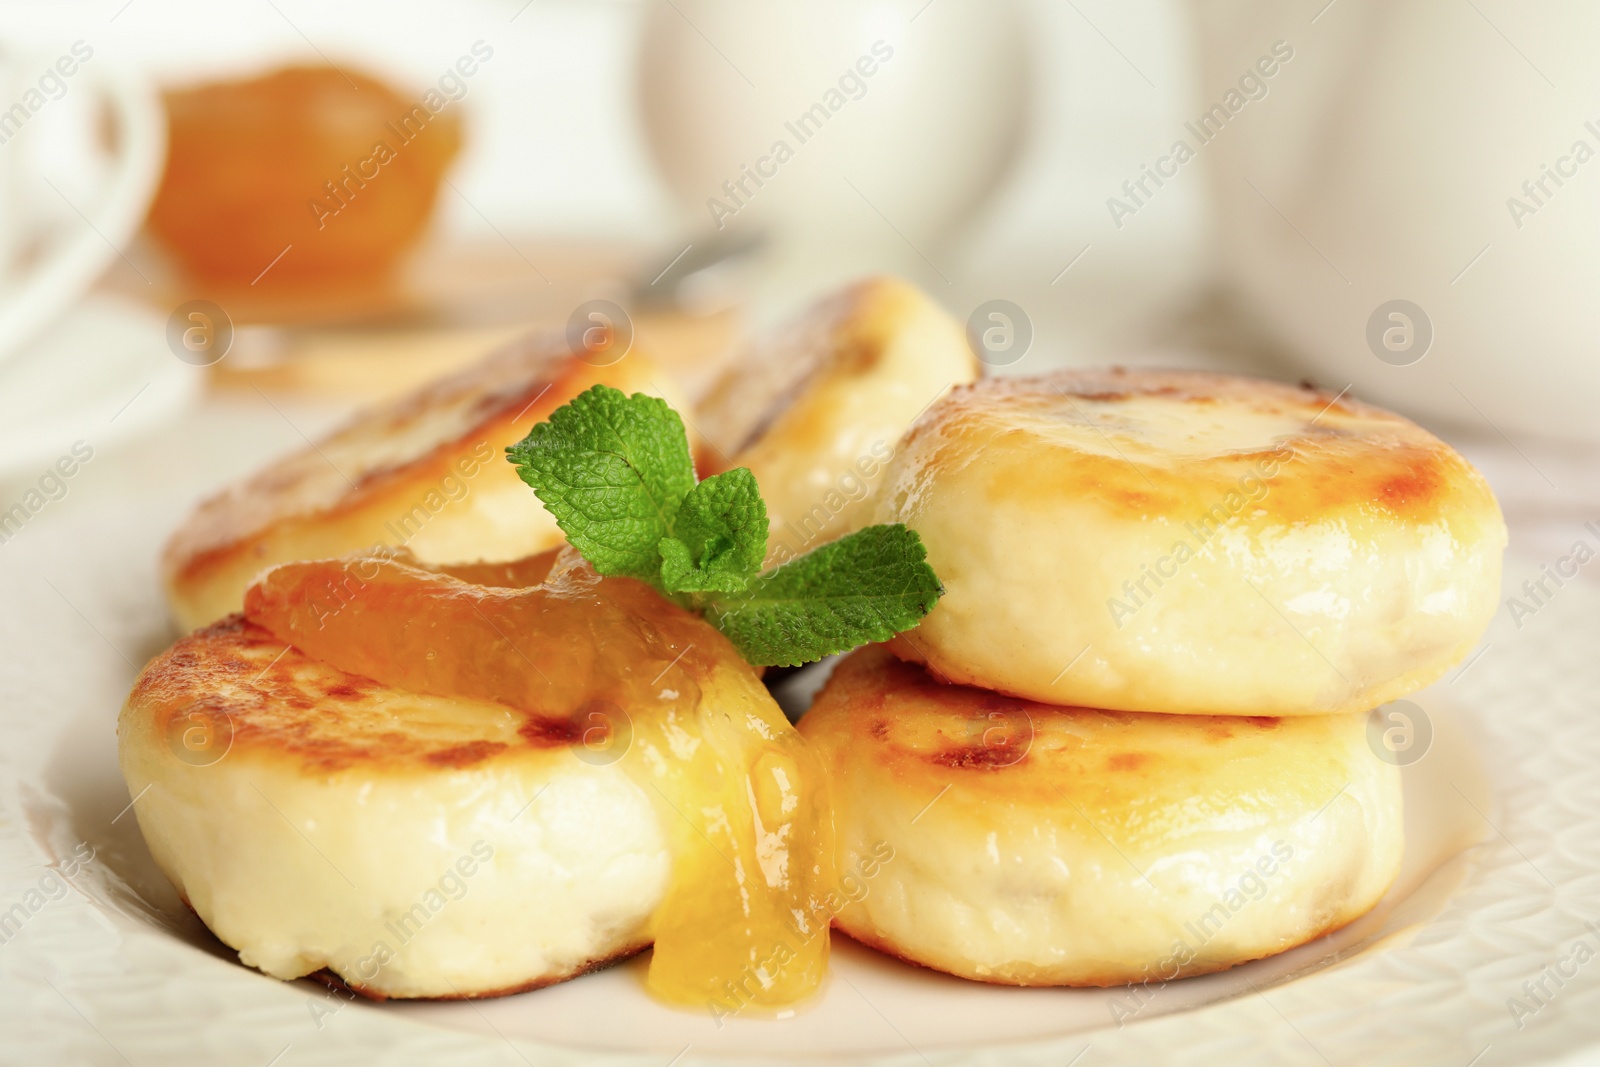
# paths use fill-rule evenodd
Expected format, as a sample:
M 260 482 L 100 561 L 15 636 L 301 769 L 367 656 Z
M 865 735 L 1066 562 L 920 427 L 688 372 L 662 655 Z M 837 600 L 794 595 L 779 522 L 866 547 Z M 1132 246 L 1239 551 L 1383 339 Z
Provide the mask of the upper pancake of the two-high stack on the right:
M 1413 422 L 1182 371 L 962 387 L 907 435 L 877 501 L 946 585 L 896 654 L 1142 712 L 1405 696 L 1478 640 L 1506 545 L 1482 475 Z

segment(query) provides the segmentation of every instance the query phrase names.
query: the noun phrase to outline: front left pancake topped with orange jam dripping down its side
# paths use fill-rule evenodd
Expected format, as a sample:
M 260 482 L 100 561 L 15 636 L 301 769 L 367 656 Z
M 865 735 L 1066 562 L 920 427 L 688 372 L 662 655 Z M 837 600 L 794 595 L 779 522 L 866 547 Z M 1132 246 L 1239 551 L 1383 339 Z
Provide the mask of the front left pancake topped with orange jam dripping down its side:
M 291 563 L 248 601 L 118 725 L 152 854 L 243 961 L 470 997 L 654 942 L 651 989 L 696 1006 L 821 981 L 819 769 L 696 616 L 574 553 L 522 589 Z

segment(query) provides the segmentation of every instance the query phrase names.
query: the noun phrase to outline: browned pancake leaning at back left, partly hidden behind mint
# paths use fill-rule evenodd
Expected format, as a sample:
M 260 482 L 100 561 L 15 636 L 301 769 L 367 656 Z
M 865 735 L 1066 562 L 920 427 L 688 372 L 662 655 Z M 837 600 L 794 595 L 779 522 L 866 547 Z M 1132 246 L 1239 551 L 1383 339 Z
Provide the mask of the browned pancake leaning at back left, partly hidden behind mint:
M 227 486 L 163 553 L 181 629 L 238 611 L 245 587 L 274 563 L 374 545 L 426 563 L 499 561 L 562 544 L 506 446 L 597 382 L 670 389 L 640 354 L 594 366 L 560 338 L 526 338 Z

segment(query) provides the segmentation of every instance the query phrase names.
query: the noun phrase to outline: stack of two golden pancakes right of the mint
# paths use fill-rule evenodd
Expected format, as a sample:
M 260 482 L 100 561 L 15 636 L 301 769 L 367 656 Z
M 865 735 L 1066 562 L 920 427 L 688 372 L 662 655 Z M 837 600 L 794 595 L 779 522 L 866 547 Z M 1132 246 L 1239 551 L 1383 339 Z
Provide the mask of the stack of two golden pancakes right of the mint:
M 1110 985 L 1283 952 L 1370 910 L 1403 845 L 1366 713 L 1496 608 L 1506 528 L 1418 426 L 1314 389 L 1072 371 L 955 389 L 875 522 L 946 595 L 846 657 L 835 920 L 970 979 Z

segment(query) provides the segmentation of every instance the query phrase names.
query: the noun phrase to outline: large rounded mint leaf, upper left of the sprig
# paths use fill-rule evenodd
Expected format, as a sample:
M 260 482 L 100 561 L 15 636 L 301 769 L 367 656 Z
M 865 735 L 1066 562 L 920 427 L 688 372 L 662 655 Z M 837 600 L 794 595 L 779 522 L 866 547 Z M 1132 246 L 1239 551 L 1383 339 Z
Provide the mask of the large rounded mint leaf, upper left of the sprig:
M 661 541 L 694 488 L 683 419 L 666 400 L 594 386 L 506 450 L 600 574 L 661 582 Z

